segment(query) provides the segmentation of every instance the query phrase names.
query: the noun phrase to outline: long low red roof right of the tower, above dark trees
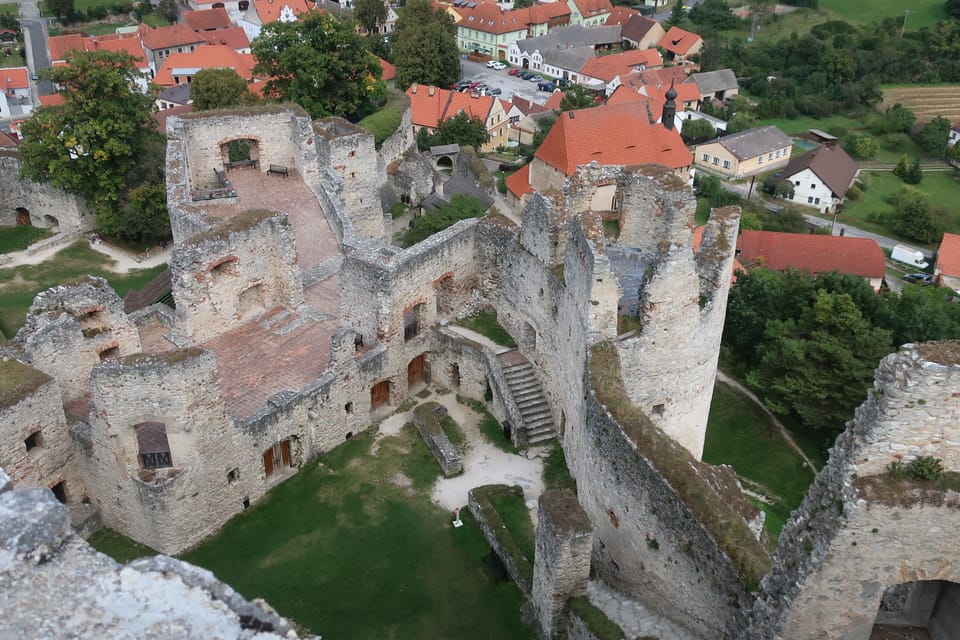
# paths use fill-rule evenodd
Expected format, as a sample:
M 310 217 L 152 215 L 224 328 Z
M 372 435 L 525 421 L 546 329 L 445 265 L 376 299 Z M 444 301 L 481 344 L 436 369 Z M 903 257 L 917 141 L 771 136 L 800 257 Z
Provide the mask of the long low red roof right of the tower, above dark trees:
M 790 267 L 813 276 L 839 271 L 864 278 L 882 278 L 886 272 L 883 251 L 870 238 L 746 230 L 737 249 L 741 261 L 776 271 Z

